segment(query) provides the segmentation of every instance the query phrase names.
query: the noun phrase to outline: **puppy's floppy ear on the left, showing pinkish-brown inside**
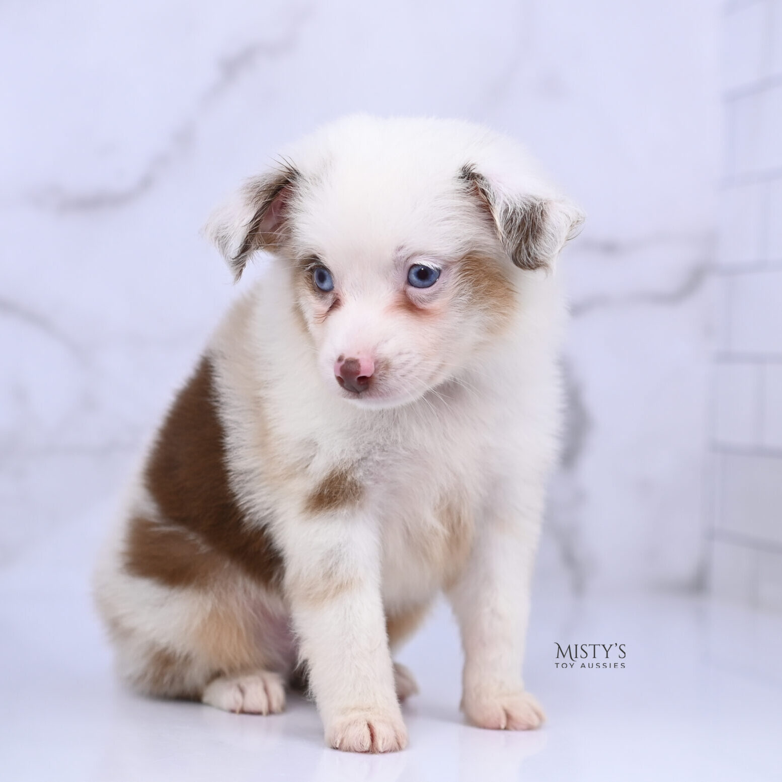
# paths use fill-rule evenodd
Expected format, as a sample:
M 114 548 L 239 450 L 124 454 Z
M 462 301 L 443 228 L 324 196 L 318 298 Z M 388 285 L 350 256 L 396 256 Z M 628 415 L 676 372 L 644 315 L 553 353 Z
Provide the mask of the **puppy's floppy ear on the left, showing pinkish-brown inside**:
M 249 179 L 233 199 L 210 217 L 204 229 L 231 267 L 242 276 L 256 250 L 278 246 L 285 237 L 286 217 L 299 170 L 285 165 Z

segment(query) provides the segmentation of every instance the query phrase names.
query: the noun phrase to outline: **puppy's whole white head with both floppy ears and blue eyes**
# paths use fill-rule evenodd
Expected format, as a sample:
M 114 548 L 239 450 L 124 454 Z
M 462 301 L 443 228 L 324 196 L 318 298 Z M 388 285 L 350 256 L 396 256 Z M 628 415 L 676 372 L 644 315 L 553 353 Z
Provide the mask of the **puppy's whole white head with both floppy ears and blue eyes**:
M 266 249 L 328 387 L 391 407 L 468 369 L 508 330 L 581 213 L 481 127 L 350 117 L 249 180 L 207 231 L 239 279 Z

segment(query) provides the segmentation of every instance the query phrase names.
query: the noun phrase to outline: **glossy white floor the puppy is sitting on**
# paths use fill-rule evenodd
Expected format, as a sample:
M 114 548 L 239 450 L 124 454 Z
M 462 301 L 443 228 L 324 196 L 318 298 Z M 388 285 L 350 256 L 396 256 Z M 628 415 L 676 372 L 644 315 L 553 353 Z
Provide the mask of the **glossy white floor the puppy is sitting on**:
M 0 570 L 0 777 L 176 780 L 782 779 L 782 618 L 680 595 L 536 596 L 526 668 L 543 730 L 495 733 L 457 710 L 457 637 L 439 608 L 401 659 L 421 694 L 410 748 L 343 755 L 314 707 L 233 715 L 115 683 L 91 611 L 96 525 Z M 625 644 L 625 669 L 557 669 L 556 646 Z

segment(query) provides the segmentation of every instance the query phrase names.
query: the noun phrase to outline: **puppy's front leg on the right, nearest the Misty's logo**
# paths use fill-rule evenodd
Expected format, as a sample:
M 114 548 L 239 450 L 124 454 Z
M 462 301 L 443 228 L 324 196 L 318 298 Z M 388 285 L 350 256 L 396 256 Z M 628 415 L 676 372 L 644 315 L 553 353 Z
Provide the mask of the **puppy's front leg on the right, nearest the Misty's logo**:
M 542 490 L 526 500 L 486 514 L 449 592 L 465 649 L 461 708 L 479 727 L 529 730 L 545 719 L 522 680 Z

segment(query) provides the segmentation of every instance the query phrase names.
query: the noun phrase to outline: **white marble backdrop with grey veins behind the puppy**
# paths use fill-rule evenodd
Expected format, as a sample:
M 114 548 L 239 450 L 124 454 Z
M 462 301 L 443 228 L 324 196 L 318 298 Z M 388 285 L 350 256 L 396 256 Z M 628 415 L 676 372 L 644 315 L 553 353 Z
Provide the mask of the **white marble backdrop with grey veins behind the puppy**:
M 365 109 L 508 131 L 587 210 L 542 588 L 698 587 L 718 6 L 0 5 L 0 567 L 117 494 L 235 295 L 210 207 Z

